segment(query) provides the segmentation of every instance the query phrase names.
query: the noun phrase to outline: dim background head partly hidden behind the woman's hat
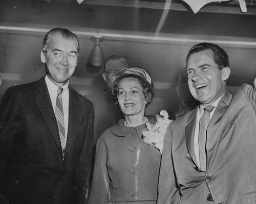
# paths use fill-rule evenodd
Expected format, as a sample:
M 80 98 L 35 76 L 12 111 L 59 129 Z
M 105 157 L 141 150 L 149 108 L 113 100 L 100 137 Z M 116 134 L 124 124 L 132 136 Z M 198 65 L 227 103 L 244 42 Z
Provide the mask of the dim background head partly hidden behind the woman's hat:
M 111 89 L 112 82 L 115 79 L 117 73 L 124 68 L 129 67 L 129 63 L 127 60 L 118 55 L 111 55 L 105 59 L 104 69 L 105 71 L 102 73 L 103 79 L 108 84 L 109 89 Z

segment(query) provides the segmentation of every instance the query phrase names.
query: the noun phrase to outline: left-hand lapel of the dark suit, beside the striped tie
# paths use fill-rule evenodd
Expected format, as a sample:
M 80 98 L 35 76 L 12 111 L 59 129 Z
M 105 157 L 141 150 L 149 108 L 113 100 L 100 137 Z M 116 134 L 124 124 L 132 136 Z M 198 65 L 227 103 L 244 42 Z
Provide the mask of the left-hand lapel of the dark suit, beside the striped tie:
M 60 156 L 62 156 L 58 126 L 54 115 L 54 110 L 52 108 L 51 98 L 45 82 L 45 77 L 41 78 L 36 83 L 35 94 L 35 101 L 41 111 L 42 118 L 44 118 L 48 128 L 50 129 L 52 137 L 59 149 Z

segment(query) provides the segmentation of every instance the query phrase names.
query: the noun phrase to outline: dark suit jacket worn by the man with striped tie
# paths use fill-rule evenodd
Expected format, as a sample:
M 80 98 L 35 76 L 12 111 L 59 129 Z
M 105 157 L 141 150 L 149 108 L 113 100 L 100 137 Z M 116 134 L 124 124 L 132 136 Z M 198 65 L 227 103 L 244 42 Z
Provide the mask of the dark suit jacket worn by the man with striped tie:
M 84 203 L 90 186 L 93 104 L 69 87 L 62 161 L 45 78 L 7 89 L 0 106 L 0 193 L 9 203 Z

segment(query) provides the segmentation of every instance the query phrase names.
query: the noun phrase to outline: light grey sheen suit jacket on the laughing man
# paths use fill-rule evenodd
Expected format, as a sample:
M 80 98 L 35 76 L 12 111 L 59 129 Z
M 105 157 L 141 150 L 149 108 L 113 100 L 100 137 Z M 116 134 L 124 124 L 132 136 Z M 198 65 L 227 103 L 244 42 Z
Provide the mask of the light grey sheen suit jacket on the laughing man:
M 170 124 L 165 134 L 158 204 L 256 203 L 255 89 L 243 84 L 225 93 L 207 129 L 207 166 L 194 151 L 197 108 Z

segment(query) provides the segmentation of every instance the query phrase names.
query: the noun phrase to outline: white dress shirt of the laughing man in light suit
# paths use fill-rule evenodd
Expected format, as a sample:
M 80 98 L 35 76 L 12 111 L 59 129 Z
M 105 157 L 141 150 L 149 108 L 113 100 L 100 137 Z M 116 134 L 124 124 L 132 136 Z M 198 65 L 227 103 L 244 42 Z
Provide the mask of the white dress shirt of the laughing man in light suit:
M 220 102 L 221 98 L 223 97 L 223 95 L 220 98 L 218 98 L 214 103 L 211 104 L 212 106 L 214 106 L 214 109 L 210 112 L 210 119 L 214 115 L 216 107 L 217 107 L 218 103 Z M 198 139 L 199 139 L 199 122 L 200 122 L 200 118 L 204 114 L 204 107 L 205 106 L 203 106 L 203 105 L 200 105 L 198 107 L 198 110 L 197 110 L 197 122 L 196 122 L 195 137 L 194 137 L 194 149 L 195 149 L 195 154 L 196 154 L 196 158 L 197 158 L 197 163 L 198 163 L 199 166 L 200 166 L 199 141 L 198 141 Z

